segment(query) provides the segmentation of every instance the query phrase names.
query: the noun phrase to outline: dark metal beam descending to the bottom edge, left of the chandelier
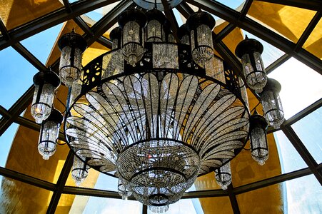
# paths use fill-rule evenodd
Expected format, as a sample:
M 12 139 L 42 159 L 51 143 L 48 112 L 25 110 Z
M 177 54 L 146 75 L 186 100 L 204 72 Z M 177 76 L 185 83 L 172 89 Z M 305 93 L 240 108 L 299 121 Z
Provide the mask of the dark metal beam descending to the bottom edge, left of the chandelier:
M 53 196 L 51 197 L 47 213 L 54 214 L 59 203 L 59 199 L 61 198 L 61 194 L 63 193 L 64 186 L 66 184 L 66 180 L 71 172 L 71 167 L 73 165 L 74 153 L 70 150 L 69 154 L 66 158 L 65 164 L 61 170 L 61 174 L 59 175 L 59 179 L 56 184 L 56 190 L 54 190 Z

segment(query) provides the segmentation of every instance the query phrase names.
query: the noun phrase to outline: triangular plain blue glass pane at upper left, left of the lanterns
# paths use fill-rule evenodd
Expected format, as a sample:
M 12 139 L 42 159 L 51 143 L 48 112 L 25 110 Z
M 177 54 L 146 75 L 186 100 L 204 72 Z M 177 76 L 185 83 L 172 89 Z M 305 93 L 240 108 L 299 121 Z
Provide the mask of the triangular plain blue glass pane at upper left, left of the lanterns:
M 24 41 L 21 41 L 21 44 L 28 49 L 31 54 L 34 54 L 39 61 L 46 64 L 47 58 L 53 49 L 54 43 L 61 31 L 63 24 L 58 24 L 46 31 L 42 31 L 39 34 L 29 37 Z

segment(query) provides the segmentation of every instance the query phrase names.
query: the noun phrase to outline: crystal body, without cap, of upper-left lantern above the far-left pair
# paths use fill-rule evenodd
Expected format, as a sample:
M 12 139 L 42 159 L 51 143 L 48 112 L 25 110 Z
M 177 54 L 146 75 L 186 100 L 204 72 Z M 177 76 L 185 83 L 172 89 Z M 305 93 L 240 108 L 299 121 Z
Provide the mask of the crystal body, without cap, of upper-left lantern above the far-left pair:
M 73 49 L 70 46 L 61 50 L 59 76 L 68 87 L 71 87 L 81 76 L 81 55 L 80 49 Z

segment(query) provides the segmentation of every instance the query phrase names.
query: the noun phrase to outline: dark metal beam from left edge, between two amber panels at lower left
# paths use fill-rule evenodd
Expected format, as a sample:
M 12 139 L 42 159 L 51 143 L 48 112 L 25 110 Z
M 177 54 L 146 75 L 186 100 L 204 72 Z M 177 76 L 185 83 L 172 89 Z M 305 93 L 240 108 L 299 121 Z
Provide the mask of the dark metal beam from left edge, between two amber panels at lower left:
M 54 191 L 56 189 L 56 186 L 54 183 L 50 183 L 46 180 L 41 180 L 39 178 L 31 177 L 30 175 L 25 175 L 23 173 L 16 172 L 14 170 L 10 170 L 8 168 L 3 168 L 0 166 L 0 175 L 11 178 L 14 180 L 19 180 L 24 183 L 28 183 L 30 185 L 34 185 L 39 188 L 43 188 L 46 190 Z

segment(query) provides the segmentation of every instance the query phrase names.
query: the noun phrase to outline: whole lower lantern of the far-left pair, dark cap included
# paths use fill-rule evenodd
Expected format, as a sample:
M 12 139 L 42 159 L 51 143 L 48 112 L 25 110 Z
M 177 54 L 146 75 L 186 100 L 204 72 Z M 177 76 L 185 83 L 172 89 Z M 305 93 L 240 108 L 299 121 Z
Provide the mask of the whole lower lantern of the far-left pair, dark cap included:
M 49 117 L 41 123 L 38 151 L 44 160 L 48 160 L 56 151 L 56 141 L 63 119 L 64 116 L 53 109 Z

